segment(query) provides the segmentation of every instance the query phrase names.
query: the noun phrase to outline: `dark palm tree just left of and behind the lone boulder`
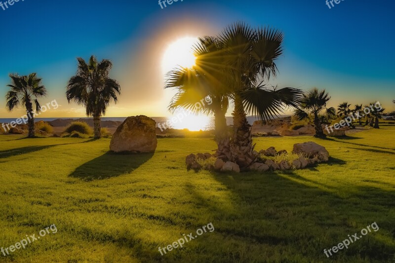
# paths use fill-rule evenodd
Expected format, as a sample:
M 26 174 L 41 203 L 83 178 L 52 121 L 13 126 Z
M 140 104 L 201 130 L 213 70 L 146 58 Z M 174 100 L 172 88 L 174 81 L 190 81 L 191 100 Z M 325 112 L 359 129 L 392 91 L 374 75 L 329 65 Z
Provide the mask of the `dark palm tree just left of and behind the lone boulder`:
M 77 75 L 72 76 L 67 84 L 66 97 L 68 102 L 74 101 L 86 108 L 86 115 L 93 116 L 94 137 L 99 139 L 100 117 L 106 114 L 112 101 L 118 102 L 120 86 L 118 81 L 109 77 L 113 64 L 103 59 L 100 63 L 91 56 L 89 64 L 77 58 Z

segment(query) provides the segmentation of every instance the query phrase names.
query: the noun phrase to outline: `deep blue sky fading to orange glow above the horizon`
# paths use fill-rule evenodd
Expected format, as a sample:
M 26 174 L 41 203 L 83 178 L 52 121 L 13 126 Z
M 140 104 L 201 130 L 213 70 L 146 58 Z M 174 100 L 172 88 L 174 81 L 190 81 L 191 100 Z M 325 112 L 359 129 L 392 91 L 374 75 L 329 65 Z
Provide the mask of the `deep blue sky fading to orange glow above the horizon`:
M 92 54 L 113 61 L 111 77 L 121 85 L 119 103 L 106 116 L 170 116 L 175 91 L 163 89 L 164 73 L 177 53 L 166 51 L 180 39 L 212 36 L 237 21 L 284 34 L 279 73 L 270 84 L 326 89 L 328 106 L 379 101 L 392 111 L 394 8 L 388 0 L 342 0 L 331 8 L 325 0 L 178 0 L 163 8 L 158 0 L 19 0 L 0 7 L 0 118 L 25 114 L 6 111 L 8 75 L 33 72 L 48 90 L 41 104 L 60 105 L 40 117 L 85 116 L 67 102 L 65 87 L 76 58 Z

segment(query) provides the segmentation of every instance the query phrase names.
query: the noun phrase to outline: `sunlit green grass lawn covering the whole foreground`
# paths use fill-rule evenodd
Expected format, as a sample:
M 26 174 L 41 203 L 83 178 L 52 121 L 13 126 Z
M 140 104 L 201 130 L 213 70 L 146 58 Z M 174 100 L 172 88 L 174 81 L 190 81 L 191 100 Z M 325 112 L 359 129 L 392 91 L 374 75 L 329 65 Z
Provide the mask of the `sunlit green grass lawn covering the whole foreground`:
M 256 150 L 314 141 L 331 159 L 267 174 L 187 172 L 211 139 L 159 139 L 155 154 L 110 139 L 0 135 L 0 246 L 55 224 L 0 262 L 395 262 L 395 127 L 342 139 L 254 138 Z M 324 249 L 377 222 L 330 259 Z M 183 234 L 207 232 L 161 256 Z

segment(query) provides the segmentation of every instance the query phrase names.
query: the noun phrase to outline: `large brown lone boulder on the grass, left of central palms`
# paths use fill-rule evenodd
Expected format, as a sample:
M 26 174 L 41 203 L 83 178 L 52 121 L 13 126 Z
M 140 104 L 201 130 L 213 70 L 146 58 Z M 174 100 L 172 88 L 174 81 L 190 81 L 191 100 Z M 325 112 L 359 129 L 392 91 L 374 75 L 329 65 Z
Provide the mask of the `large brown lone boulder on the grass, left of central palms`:
M 110 143 L 115 152 L 155 152 L 158 145 L 155 120 L 144 116 L 127 117 L 118 126 Z

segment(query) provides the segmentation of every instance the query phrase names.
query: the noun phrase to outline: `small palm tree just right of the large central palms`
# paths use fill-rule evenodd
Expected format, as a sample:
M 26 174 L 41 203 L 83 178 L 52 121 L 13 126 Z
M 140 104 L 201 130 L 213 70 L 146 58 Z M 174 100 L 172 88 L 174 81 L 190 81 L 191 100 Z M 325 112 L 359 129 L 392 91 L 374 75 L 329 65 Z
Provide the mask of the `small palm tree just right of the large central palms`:
M 321 121 L 318 114 L 326 108 L 326 103 L 330 98 L 331 97 L 325 92 L 325 90 L 313 88 L 303 94 L 299 108 L 295 110 L 294 114 L 299 120 L 308 118 L 309 114 L 314 116 L 314 125 L 316 128 L 316 135 L 314 135 L 314 137 L 316 138 L 326 138 L 326 135 L 322 131 Z

